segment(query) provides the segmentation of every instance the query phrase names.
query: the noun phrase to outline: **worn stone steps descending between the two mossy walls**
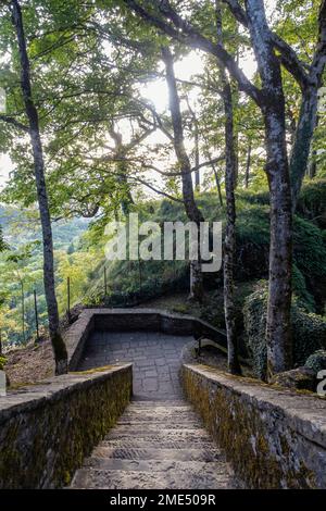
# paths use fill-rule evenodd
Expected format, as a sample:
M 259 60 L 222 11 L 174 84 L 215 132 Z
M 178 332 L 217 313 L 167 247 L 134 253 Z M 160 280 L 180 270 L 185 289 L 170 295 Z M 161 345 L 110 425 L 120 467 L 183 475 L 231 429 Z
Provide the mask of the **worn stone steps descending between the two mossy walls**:
M 184 400 L 131 401 L 71 488 L 223 489 L 231 470 Z

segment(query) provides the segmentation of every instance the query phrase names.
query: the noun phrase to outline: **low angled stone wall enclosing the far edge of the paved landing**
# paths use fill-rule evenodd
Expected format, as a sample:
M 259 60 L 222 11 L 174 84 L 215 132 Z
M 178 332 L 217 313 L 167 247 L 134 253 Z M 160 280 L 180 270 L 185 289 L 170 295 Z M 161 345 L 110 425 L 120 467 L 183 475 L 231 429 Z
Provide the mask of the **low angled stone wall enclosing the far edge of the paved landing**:
M 93 332 L 163 332 L 170 335 L 193 335 L 214 340 L 226 352 L 226 335 L 197 317 L 171 314 L 155 309 L 85 309 L 66 333 L 70 370 L 80 361 L 85 341 Z

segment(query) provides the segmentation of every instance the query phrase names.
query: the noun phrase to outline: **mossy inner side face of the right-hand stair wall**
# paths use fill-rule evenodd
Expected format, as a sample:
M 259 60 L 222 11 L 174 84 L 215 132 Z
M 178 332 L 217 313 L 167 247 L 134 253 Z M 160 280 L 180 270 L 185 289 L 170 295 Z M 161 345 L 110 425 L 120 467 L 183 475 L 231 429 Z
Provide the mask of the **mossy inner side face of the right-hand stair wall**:
M 325 449 L 321 454 L 298 434 L 280 408 L 253 399 L 244 385 L 243 394 L 234 389 L 236 377 L 228 375 L 230 385 L 225 386 L 209 378 L 212 370 L 204 371 L 208 376 L 184 366 L 185 392 L 247 487 L 304 489 L 321 487 L 322 479 L 326 484 Z

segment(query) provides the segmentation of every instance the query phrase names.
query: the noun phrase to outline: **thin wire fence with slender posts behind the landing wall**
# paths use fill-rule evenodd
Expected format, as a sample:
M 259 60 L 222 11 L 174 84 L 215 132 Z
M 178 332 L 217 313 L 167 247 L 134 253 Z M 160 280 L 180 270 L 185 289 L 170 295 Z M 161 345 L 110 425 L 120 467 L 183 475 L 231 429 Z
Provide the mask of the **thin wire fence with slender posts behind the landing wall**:
M 159 272 L 158 267 L 146 265 L 142 261 L 129 261 L 128 266 L 117 271 L 108 269 L 105 263 L 99 265 L 96 276 L 89 281 L 84 292 L 74 290 L 74 278 L 68 275 L 65 282 L 64 301 L 61 307 L 63 323 L 72 323 L 76 317 L 75 309 L 80 307 L 135 307 L 142 301 L 162 296 L 171 291 L 181 291 L 188 285 L 188 269 L 185 265 L 170 263 L 170 272 Z M 61 283 L 62 285 L 63 283 Z M 41 307 L 40 307 L 41 301 Z M 11 301 L 8 311 L 9 325 L 0 324 L 0 352 L 12 347 L 25 346 L 30 341 L 40 342 L 47 337 L 47 313 L 45 296 L 37 288 L 24 289 L 21 283 L 20 302 L 17 296 Z M 11 329 L 11 317 L 15 327 Z

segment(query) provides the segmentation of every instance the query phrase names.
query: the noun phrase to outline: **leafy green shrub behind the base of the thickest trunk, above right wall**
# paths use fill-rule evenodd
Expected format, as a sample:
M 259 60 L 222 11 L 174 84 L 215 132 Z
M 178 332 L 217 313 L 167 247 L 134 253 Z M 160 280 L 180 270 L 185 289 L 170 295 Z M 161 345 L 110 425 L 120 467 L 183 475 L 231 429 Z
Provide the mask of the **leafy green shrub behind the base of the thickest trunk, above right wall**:
M 267 347 L 265 338 L 267 311 L 267 284 L 247 297 L 243 307 L 246 344 L 256 377 L 266 379 Z M 326 348 L 326 321 L 322 316 L 306 312 L 294 298 L 291 310 L 293 338 L 293 365 L 303 365 L 308 357 L 321 348 Z

